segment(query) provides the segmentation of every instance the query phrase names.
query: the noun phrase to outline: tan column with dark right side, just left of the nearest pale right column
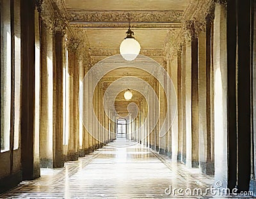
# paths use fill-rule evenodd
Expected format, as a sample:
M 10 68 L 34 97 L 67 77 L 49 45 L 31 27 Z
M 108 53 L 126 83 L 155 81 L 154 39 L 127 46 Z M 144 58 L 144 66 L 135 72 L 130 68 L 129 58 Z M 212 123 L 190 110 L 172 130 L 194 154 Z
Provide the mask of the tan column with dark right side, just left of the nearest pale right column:
M 199 95 L 199 161 L 202 173 L 214 174 L 211 161 L 211 22 L 207 20 L 206 32 L 198 34 L 198 95 Z

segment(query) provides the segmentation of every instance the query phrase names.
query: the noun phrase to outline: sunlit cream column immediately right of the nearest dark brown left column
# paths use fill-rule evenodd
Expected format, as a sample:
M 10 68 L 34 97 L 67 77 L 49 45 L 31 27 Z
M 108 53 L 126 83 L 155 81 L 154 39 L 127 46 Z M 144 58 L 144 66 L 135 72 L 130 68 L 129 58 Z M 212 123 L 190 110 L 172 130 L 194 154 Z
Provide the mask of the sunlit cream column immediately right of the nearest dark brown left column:
M 49 34 L 51 32 L 51 34 Z M 41 25 L 40 167 L 53 168 L 52 27 Z

